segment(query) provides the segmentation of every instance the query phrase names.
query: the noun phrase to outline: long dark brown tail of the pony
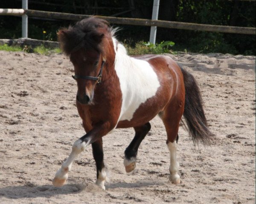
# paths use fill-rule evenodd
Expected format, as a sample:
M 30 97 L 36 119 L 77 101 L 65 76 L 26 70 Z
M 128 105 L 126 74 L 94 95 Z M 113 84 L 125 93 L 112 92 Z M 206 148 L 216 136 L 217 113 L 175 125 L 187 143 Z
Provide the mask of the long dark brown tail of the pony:
M 195 78 L 181 68 L 185 85 L 185 107 L 183 116 L 186 121 L 189 136 L 194 143 L 201 141 L 203 144 L 209 144 L 213 133 L 208 129 L 207 120 L 204 115 L 203 102 L 199 87 Z

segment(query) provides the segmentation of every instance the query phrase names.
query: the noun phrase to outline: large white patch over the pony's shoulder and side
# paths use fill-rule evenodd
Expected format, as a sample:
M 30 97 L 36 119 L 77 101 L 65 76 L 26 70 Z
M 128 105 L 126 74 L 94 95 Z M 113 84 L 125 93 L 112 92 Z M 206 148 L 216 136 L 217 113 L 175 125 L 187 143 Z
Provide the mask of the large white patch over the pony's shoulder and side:
M 116 42 L 115 38 L 113 42 Z M 118 121 L 129 121 L 142 103 L 155 96 L 160 82 L 148 62 L 129 57 L 120 43 L 117 44 L 115 70 L 122 92 L 122 108 Z

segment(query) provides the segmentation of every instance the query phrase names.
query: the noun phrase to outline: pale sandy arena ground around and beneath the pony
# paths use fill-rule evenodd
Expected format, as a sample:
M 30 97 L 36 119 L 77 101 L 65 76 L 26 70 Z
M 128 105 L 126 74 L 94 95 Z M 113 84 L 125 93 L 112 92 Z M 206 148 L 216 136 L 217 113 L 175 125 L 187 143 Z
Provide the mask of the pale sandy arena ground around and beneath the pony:
M 75 160 L 67 184 L 52 186 L 73 142 L 84 134 L 69 59 L 0 51 L 0 203 L 255 204 L 255 56 L 172 57 L 197 79 L 217 140 L 197 147 L 180 128 L 181 184 L 175 185 L 158 117 L 129 174 L 123 157 L 134 131 L 118 129 L 103 138 L 111 178 L 103 191 L 94 184 L 91 147 Z

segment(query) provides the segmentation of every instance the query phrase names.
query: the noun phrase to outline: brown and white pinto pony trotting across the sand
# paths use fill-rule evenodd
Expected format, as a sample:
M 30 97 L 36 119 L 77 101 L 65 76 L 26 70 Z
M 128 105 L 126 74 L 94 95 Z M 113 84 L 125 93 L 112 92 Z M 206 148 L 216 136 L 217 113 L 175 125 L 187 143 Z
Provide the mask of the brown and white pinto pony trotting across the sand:
M 96 184 L 105 189 L 102 137 L 116 128 L 134 127 L 135 136 L 124 158 L 126 172 L 134 170 L 140 143 L 151 128 L 149 121 L 157 114 L 166 128 L 169 179 L 174 184 L 180 183 L 176 150 L 181 116 L 194 142 L 211 139 L 194 77 L 164 55 L 129 57 L 115 31 L 107 21 L 91 17 L 58 32 L 61 48 L 74 65 L 76 106 L 86 134 L 74 142 L 70 156 L 55 174 L 54 186 L 65 184 L 73 160 L 91 144 Z

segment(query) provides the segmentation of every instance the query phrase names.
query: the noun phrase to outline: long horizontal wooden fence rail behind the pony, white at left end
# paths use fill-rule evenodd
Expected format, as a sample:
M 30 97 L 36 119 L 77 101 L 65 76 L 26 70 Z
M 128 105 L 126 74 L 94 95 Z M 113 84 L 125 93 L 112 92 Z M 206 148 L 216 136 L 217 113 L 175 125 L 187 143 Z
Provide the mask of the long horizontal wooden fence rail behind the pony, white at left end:
M 0 15 L 22 15 L 44 17 L 49 19 L 61 19 L 61 20 L 81 20 L 90 15 L 79 15 L 79 14 L 67 14 L 49 11 L 36 11 L 30 9 L 12 9 L 12 8 L 0 8 Z M 197 23 L 182 23 L 165 20 L 148 20 L 148 19 L 137 19 L 137 18 L 119 18 L 119 17 L 106 17 L 98 16 L 99 18 L 105 19 L 110 23 L 124 24 L 124 25 L 136 25 L 136 26 L 157 26 L 162 28 L 175 28 L 185 29 L 193 31 L 210 31 L 210 32 L 222 32 L 222 33 L 236 33 L 236 34 L 256 34 L 256 28 L 247 27 L 236 27 L 236 26 L 215 26 L 207 24 Z

